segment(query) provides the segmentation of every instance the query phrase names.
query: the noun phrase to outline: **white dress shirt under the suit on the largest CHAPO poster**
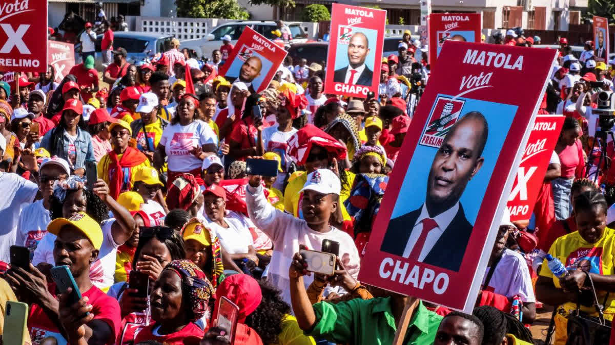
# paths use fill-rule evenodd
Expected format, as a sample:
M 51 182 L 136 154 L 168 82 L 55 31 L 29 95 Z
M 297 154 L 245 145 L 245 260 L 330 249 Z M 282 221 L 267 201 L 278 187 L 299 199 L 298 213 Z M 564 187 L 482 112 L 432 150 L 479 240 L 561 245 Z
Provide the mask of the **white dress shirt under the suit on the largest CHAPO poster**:
M 446 230 L 446 228 L 448 228 L 448 225 L 450 225 L 450 223 L 453 221 L 453 218 L 457 214 L 457 211 L 459 211 L 459 202 L 454 204 L 454 206 L 450 209 L 447 209 L 441 214 L 435 216 L 434 220 L 438 226 L 433 228 L 427 234 L 425 244 L 423 246 L 423 249 L 421 249 L 421 254 L 419 255 L 419 262 L 423 262 L 425 257 L 427 257 L 427 254 L 429 254 L 431 249 L 434 247 L 435 242 L 438 241 L 440 236 L 442 236 L 442 233 L 444 233 L 444 230 Z M 410 238 L 408 239 L 408 243 L 406 244 L 406 249 L 403 250 L 403 257 L 410 257 L 410 253 L 415 247 L 416 241 L 418 241 L 419 237 L 421 236 L 421 233 L 423 232 L 422 221 L 426 218 L 431 217 L 429 217 L 429 212 L 427 212 L 426 204 L 423 204 L 423 206 L 421 207 L 421 214 L 419 214 L 419 217 L 416 219 L 415 226 L 414 228 L 412 228 L 412 233 L 410 233 Z

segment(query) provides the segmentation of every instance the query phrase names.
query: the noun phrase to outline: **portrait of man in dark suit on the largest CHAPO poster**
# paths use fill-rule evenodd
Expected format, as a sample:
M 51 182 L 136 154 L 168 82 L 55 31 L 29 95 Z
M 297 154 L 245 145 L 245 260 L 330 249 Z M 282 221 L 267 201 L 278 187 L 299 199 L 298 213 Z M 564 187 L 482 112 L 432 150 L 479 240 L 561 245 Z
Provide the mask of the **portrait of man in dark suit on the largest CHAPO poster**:
M 391 219 L 383 252 L 459 271 L 474 227 L 459 199 L 483 166 L 487 136 L 487 121 L 480 112 L 469 112 L 457 120 L 435 153 L 425 202 Z

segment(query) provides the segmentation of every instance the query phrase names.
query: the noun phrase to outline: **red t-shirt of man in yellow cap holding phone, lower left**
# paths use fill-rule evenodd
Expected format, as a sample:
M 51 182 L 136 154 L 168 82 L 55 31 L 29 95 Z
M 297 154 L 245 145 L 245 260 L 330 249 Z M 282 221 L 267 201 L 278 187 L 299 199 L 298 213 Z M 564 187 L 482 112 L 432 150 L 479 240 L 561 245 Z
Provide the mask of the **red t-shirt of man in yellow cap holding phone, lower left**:
M 55 283 L 47 285 L 49 292 L 55 292 Z M 122 322 L 120 316 L 119 304 L 113 297 L 107 296 L 102 290 L 92 286 L 89 290 L 81 294 L 82 297 L 89 298 L 92 304 L 92 314 L 95 320 L 103 320 L 111 327 L 113 334 L 109 337 L 107 344 L 115 344 L 115 340 L 119 333 L 119 327 Z M 49 319 L 44 309 L 38 304 L 30 306 L 30 315 L 28 316 L 28 331 L 33 344 L 38 344 L 42 339 L 48 336 L 54 336 L 58 339 L 58 343 L 66 343 L 65 338 L 60 333 L 57 325 Z

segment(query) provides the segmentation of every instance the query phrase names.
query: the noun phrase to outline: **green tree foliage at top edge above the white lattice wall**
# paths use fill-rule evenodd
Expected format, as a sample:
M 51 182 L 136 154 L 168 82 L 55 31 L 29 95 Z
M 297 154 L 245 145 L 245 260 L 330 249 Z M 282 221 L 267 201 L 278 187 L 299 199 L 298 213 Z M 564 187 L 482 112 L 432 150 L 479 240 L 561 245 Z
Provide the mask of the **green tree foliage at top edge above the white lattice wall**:
M 177 17 L 248 19 L 249 15 L 236 0 L 175 0 Z

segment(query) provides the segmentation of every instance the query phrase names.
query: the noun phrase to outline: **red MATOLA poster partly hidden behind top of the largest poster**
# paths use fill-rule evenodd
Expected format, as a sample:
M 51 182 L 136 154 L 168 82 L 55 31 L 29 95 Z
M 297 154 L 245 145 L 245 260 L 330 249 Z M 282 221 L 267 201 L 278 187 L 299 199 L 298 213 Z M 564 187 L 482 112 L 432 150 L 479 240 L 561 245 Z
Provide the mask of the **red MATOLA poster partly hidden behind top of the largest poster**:
M 430 14 L 427 37 L 431 71 L 434 71 L 444 42 L 447 40 L 480 42 L 481 28 L 480 13 Z

